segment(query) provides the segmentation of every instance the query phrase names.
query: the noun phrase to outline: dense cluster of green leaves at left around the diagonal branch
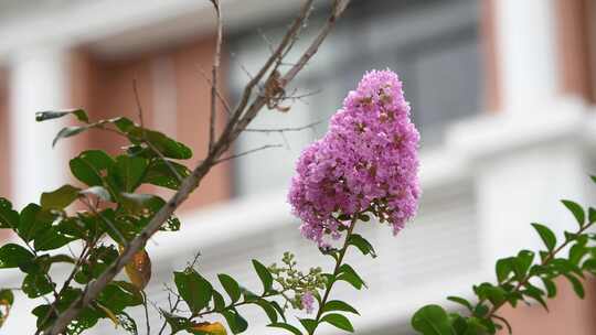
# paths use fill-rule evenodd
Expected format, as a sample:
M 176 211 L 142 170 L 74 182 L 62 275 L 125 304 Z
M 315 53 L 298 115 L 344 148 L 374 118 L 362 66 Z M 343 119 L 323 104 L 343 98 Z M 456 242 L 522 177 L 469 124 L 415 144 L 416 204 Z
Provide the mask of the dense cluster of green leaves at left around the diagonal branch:
M 29 204 L 20 212 L 10 201 L 0 198 L 0 229 L 10 229 L 20 242 L 0 247 L 0 269 L 23 272 L 22 292 L 30 299 L 44 298 L 45 304 L 33 310 L 39 329 L 51 326 L 57 314 L 78 299 L 86 284 L 97 279 L 166 201 L 153 194 L 138 193 L 141 185 L 175 191 L 190 170 L 178 160 L 192 156 L 184 144 L 166 134 L 145 129 L 127 118 L 89 122 L 82 110 L 45 111 L 38 121 L 74 116 L 78 126 L 63 128 L 54 144 L 91 129 L 99 129 L 126 138 L 129 145 L 115 155 L 102 150 L 86 150 L 68 163 L 77 185 L 66 184 L 42 193 L 39 204 Z M 162 230 L 178 230 L 180 220 L 170 217 Z M 70 253 L 64 252 L 68 247 Z M 73 250 L 81 250 L 75 255 Z M 126 270 L 131 282 L 109 283 L 83 313 L 72 322 L 67 334 L 79 334 L 99 318 L 136 334 L 136 323 L 125 312 L 146 301 L 142 289 L 150 279 L 150 260 L 146 251 Z M 71 274 L 61 283 L 52 278 L 56 263 L 71 267 Z M 11 291 L 0 292 L 0 325 L 13 303 Z M 9 299 L 10 298 L 10 299 Z M 53 298 L 53 302 L 50 302 Z

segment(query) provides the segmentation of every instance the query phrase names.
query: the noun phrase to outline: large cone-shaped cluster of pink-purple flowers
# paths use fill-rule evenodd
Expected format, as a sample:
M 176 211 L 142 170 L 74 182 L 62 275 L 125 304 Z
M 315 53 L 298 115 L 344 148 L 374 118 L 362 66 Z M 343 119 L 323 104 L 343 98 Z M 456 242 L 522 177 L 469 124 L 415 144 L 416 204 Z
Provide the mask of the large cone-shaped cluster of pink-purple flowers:
M 419 134 L 409 120 L 402 82 L 372 71 L 331 118 L 328 133 L 300 155 L 288 201 L 302 235 L 326 246 L 349 223 L 340 215 L 370 212 L 400 231 L 417 209 Z

